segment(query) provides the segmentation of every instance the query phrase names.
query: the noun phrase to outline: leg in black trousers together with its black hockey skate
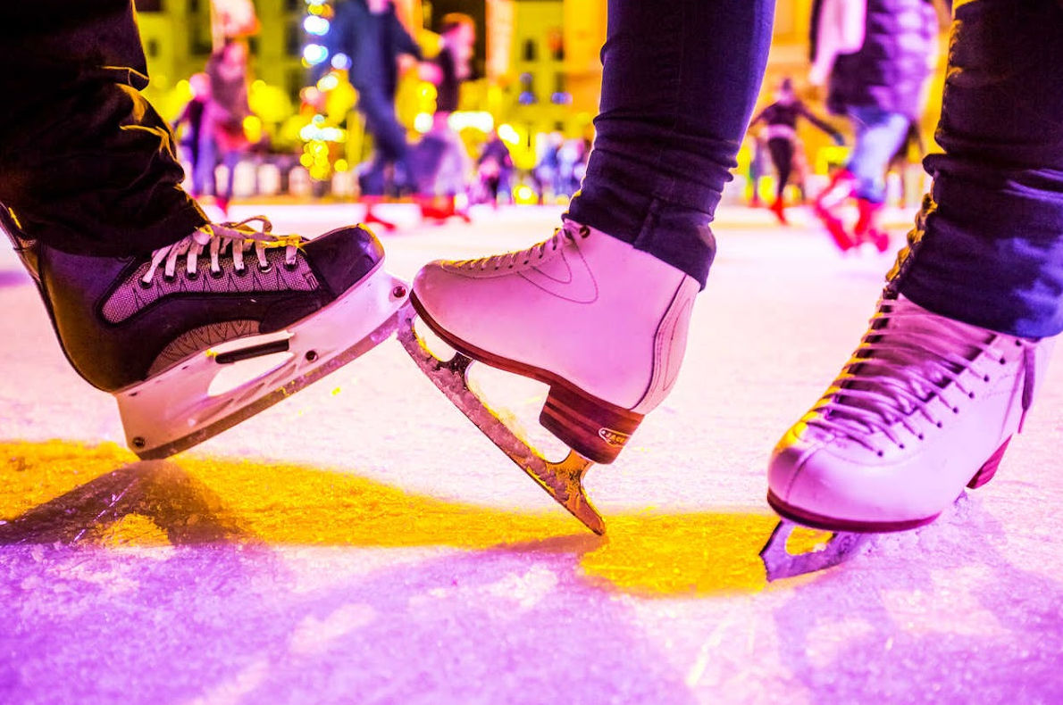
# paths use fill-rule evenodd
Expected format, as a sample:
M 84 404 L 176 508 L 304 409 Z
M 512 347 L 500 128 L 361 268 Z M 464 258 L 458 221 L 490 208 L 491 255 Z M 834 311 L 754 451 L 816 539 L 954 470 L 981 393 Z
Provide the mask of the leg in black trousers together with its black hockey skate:
M 364 292 L 392 285 L 369 281 L 383 252 L 362 228 L 305 240 L 265 219 L 208 222 L 139 92 L 134 17 L 126 0 L 0 3 L 0 229 L 70 364 L 117 398 L 133 450 L 162 458 L 338 367 L 391 313 Z M 207 350 L 251 356 L 285 331 L 299 364 L 212 393 Z

